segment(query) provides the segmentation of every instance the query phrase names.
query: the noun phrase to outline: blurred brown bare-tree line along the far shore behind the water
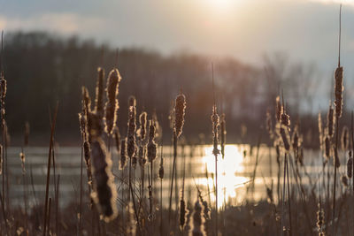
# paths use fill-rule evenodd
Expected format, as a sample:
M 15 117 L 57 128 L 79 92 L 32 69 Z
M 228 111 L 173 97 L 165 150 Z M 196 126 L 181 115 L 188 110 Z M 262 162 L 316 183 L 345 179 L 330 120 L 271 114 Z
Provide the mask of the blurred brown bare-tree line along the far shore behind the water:
M 257 142 L 261 133 L 262 141 L 267 141 L 266 110 L 273 114 L 275 97 L 283 89 L 292 122 L 301 124 L 304 143 L 318 143 L 318 104 L 324 98 L 316 97 L 320 76 L 315 65 L 291 63 L 281 53 L 264 57 L 261 67 L 242 64 L 232 57 L 211 59 L 189 52 L 162 55 L 142 48 L 119 49 L 118 55 L 117 60 L 117 49 L 107 44 L 76 36 L 45 32 L 5 34 L 6 116 L 14 144 L 22 141 L 25 121 L 31 126 L 32 144 L 46 144 L 49 109 L 57 102 L 58 141 L 62 145 L 79 144 L 81 85 L 89 88 L 93 99 L 97 66 L 103 66 L 107 75 L 117 63 L 123 78 L 119 85 L 120 124 L 127 123 L 127 99 L 135 95 L 138 113 L 156 112 L 165 136 L 170 137 L 168 114 L 182 89 L 188 103 L 184 135 L 188 141 L 197 142 L 200 133 L 207 133 L 205 141 L 210 142 L 213 63 L 216 99 L 219 112 L 226 113 L 228 142 Z M 329 94 L 330 91 L 327 101 Z M 121 134 L 126 132 L 120 130 Z M 167 137 L 165 141 L 170 141 Z

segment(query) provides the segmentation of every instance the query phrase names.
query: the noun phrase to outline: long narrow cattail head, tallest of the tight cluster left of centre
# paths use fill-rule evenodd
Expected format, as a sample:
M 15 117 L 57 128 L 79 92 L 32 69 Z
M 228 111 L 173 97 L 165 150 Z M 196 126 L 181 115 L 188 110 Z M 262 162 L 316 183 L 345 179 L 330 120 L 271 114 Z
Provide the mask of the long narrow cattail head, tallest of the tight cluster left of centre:
M 127 156 L 132 158 L 135 155 L 135 97 L 129 97 L 129 116 L 128 116 L 128 123 L 127 123 Z

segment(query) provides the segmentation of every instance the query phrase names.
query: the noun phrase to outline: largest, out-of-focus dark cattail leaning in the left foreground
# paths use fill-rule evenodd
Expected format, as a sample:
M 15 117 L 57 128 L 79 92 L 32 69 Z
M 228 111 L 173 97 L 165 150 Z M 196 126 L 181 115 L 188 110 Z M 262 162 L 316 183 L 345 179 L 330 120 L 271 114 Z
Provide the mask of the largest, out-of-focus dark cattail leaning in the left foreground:
M 91 143 L 92 172 L 95 178 L 92 198 L 104 217 L 110 222 L 117 216 L 116 197 L 117 190 L 113 182 L 112 159 L 106 150 L 104 141 L 96 137 Z

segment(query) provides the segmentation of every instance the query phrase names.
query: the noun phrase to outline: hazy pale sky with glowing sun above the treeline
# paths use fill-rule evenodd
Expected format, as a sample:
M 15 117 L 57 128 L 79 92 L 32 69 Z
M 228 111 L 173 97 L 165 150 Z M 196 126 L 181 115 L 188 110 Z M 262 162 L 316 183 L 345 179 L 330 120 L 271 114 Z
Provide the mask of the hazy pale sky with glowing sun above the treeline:
M 354 80 L 354 0 L 0 0 L 0 28 L 76 34 L 165 55 L 185 50 L 235 57 L 255 65 L 282 52 L 294 62 L 315 63 L 330 78 L 337 64 L 340 3 L 342 65 Z

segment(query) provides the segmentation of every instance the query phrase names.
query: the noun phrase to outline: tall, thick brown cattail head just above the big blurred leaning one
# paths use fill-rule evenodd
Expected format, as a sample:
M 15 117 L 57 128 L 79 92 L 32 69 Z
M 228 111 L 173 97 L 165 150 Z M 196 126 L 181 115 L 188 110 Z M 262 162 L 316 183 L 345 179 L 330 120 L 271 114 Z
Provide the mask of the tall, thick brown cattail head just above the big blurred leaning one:
M 108 75 L 106 88 L 108 101 L 105 103 L 105 132 L 108 134 L 112 134 L 113 129 L 116 126 L 117 110 L 119 109 L 117 96 L 120 80 L 121 77 L 119 71 L 113 69 Z

